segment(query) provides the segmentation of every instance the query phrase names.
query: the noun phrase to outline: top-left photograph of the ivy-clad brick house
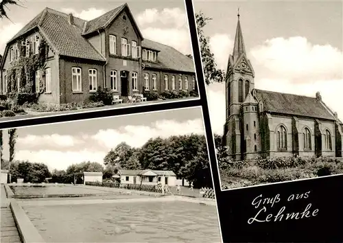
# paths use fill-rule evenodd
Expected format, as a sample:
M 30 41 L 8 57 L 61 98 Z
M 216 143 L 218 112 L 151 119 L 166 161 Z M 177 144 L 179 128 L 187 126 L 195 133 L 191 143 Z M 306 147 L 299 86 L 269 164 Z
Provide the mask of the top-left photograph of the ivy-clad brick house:
M 198 99 L 184 1 L 1 1 L 0 122 Z

